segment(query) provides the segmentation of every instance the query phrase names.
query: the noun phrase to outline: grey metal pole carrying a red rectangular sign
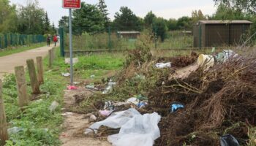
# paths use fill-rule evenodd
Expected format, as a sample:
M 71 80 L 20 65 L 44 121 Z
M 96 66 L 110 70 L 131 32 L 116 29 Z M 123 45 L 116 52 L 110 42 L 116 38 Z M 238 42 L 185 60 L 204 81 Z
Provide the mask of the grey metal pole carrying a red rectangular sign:
M 73 50 L 72 50 L 72 9 L 80 9 L 80 0 L 63 0 L 62 7 L 69 9 L 69 56 L 70 56 L 70 85 L 73 85 Z

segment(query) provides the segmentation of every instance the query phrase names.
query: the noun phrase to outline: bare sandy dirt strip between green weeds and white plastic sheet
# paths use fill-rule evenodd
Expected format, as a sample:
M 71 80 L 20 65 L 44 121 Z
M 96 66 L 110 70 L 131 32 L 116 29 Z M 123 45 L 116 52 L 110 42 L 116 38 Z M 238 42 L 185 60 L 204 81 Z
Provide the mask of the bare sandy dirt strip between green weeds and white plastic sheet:
M 75 91 L 66 90 L 64 92 L 64 113 L 68 112 L 69 108 L 75 105 L 75 94 L 92 95 L 91 91 L 86 90 L 86 88 L 78 88 Z M 59 136 L 63 146 L 110 146 L 110 143 L 106 140 L 96 139 L 83 134 L 84 129 L 91 125 L 86 115 L 73 113 L 72 115 L 65 115 L 64 118 L 64 131 Z

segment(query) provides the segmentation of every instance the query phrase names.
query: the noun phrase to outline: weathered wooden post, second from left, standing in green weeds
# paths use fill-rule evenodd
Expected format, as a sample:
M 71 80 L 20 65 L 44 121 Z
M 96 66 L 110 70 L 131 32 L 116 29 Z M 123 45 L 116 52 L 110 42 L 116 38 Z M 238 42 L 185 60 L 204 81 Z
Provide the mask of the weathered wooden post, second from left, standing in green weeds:
M 29 99 L 26 92 L 26 77 L 24 66 L 15 67 L 15 78 L 18 92 L 18 104 L 20 108 L 22 108 L 29 104 Z

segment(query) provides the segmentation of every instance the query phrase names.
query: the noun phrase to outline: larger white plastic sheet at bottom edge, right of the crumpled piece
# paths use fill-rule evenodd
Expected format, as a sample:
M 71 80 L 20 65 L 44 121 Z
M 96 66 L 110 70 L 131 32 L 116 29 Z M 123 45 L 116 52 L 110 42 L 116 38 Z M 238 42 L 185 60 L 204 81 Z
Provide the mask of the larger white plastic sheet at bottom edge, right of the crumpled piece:
M 108 141 L 115 146 L 152 146 L 154 140 L 160 137 L 157 126 L 161 117 L 153 114 L 135 115 L 121 126 L 118 134 L 108 137 Z

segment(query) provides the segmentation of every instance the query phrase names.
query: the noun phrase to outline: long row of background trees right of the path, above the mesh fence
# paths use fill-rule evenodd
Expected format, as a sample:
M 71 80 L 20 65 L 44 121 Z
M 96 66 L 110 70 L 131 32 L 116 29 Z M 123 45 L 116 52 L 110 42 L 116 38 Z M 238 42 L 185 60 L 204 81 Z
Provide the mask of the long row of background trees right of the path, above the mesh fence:
M 140 18 L 132 12 L 129 7 L 121 7 L 114 15 L 114 20 L 108 18 L 108 9 L 104 0 L 98 4 L 86 4 L 82 2 L 81 9 L 72 12 L 72 26 L 75 34 L 99 33 L 103 31 L 142 31 L 150 28 L 162 40 L 165 39 L 167 31 L 186 30 L 192 31 L 198 20 L 252 20 L 256 22 L 255 0 L 244 2 L 243 0 L 214 0 L 217 4 L 217 11 L 213 15 L 204 15 L 198 9 L 192 11 L 191 16 L 184 16 L 178 19 L 165 19 L 157 17 L 150 11 L 144 18 Z M 240 7 L 243 4 L 243 7 Z M 59 20 L 59 27 L 68 31 L 68 17 L 63 16 Z

